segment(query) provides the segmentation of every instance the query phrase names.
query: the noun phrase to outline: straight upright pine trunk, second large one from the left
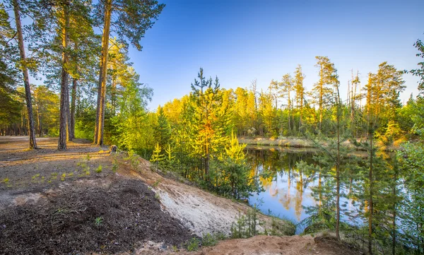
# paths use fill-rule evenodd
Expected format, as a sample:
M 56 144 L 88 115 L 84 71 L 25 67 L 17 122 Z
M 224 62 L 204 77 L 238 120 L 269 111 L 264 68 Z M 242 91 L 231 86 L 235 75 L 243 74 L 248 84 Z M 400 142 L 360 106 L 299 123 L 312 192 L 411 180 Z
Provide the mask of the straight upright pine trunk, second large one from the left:
M 69 73 L 66 71 L 65 66 L 68 64 L 69 56 L 66 49 L 69 45 L 69 0 L 64 4 L 64 28 L 62 28 L 62 70 L 61 70 L 61 83 L 60 83 L 60 114 L 59 114 L 59 143 L 57 148 L 59 150 L 66 150 L 66 138 L 68 132 L 68 117 L 69 117 L 69 88 L 68 78 Z M 68 97 L 68 98 L 66 98 Z

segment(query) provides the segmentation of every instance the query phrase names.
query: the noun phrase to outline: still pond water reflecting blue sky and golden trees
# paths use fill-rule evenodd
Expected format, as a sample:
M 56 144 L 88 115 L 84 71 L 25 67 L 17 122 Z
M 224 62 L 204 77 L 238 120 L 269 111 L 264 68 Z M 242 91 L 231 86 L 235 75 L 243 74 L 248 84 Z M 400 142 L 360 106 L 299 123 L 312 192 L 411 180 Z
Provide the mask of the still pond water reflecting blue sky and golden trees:
M 269 178 L 260 178 L 264 188 L 259 194 L 249 198 L 249 204 L 256 205 L 264 214 L 271 213 L 279 218 L 300 223 L 309 215 L 304 206 L 315 206 L 319 201 L 312 196 L 312 188 L 319 186 L 324 179 L 321 174 L 308 176 L 296 167 L 296 163 L 303 160 L 308 164 L 314 162 L 314 155 L 320 153 L 313 148 L 283 148 L 262 146 L 261 148 L 248 146 L 247 160 L 252 165 L 251 174 L 264 171 L 271 172 Z M 351 201 L 341 198 L 348 207 L 353 206 Z M 343 220 L 343 215 L 341 216 Z M 347 220 L 347 219 L 346 219 Z M 305 226 L 298 225 L 297 234 L 305 230 Z

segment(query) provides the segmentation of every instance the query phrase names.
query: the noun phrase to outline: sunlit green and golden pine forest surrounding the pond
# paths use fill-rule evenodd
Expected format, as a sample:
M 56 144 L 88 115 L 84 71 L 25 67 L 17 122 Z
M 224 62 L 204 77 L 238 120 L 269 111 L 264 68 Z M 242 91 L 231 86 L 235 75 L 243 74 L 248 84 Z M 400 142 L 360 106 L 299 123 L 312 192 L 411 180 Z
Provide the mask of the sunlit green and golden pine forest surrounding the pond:
M 339 81 L 329 57 L 315 58 L 313 88 L 302 66 L 259 89 L 225 89 L 193 70 L 189 95 L 148 110 L 153 89 L 141 82 L 129 47 L 142 49 L 146 30 L 165 8 L 158 1 L 11 0 L 0 4 L 0 134 L 74 138 L 116 145 L 220 196 L 245 200 L 261 191 L 238 138 L 301 138 L 322 153 L 296 167 L 319 175 L 320 201 L 307 208 L 310 232 L 355 235 L 369 254 L 424 253 L 424 44 L 418 66 L 402 70 L 382 59 L 360 81 Z M 113 36 L 112 36 L 113 35 Z M 367 72 L 367 70 L 360 70 Z M 287 72 L 287 73 L 285 73 Z M 197 73 L 197 74 L 196 74 Z M 401 102 L 405 75 L 419 95 Z M 33 85 L 31 79 L 42 79 Z M 341 95 L 341 84 L 348 84 Z M 346 85 L 343 85 L 346 86 Z M 261 87 L 263 88 L 263 87 Z M 355 156 L 363 150 L 366 157 Z M 321 180 L 321 177 L 323 178 Z M 341 198 L 358 205 L 347 210 Z M 341 215 L 360 220 L 350 224 Z M 346 219 L 346 218 L 345 218 Z

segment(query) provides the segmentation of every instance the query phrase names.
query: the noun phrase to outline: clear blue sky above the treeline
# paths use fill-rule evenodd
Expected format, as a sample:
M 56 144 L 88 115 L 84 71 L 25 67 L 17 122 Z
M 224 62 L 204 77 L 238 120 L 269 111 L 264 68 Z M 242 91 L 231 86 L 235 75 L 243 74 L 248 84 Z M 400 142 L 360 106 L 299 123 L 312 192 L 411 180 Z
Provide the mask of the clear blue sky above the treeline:
M 365 84 L 382 61 L 399 70 L 420 61 L 413 43 L 424 39 L 423 0 L 160 2 L 166 7 L 146 32 L 143 51 L 130 49 L 141 82 L 153 88 L 152 110 L 189 93 L 200 67 L 223 88 L 248 88 L 257 78 L 266 89 L 301 64 L 310 90 L 318 79 L 314 57 L 327 56 L 346 95 L 352 69 Z M 417 95 L 418 78 L 404 78 L 407 100 Z

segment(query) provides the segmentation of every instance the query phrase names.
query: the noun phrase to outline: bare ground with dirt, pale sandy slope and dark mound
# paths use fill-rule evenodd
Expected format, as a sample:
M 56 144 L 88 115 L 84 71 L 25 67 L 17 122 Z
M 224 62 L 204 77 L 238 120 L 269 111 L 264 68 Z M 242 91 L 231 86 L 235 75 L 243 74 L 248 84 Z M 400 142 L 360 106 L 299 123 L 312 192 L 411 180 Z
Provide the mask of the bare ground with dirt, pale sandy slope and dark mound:
M 358 254 L 310 236 L 228 239 L 185 251 L 192 237 L 228 235 L 251 208 L 88 141 L 75 139 L 66 151 L 57 150 L 57 138 L 37 145 L 28 150 L 28 137 L 0 136 L 0 254 Z M 259 231 L 272 224 L 266 215 L 259 220 Z

